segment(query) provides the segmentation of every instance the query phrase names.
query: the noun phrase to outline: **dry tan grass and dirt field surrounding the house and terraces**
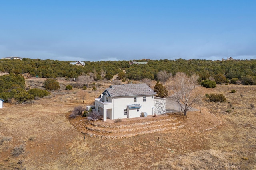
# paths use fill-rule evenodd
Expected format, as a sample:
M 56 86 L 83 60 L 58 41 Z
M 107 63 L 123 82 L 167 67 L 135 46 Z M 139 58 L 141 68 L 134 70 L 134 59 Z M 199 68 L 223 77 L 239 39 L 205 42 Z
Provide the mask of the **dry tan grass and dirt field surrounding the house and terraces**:
M 40 87 L 43 81 L 26 79 L 31 87 Z M 180 121 L 182 129 L 107 140 L 84 137 L 84 117 L 68 118 L 75 106 L 82 105 L 78 89 L 64 90 L 68 83 L 60 80 L 62 90 L 34 103 L 4 103 L 0 109 L 0 169 L 256 169 L 256 108 L 250 106 L 256 105 L 256 86 L 198 87 L 202 96 L 222 93 L 227 102 L 204 101 L 196 106 L 201 113 L 165 116 Z M 230 93 L 231 89 L 236 93 Z M 88 89 L 84 106 L 92 104 L 103 90 Z M 24 149 L 20 156 L 12 156 L 15 147 Z

